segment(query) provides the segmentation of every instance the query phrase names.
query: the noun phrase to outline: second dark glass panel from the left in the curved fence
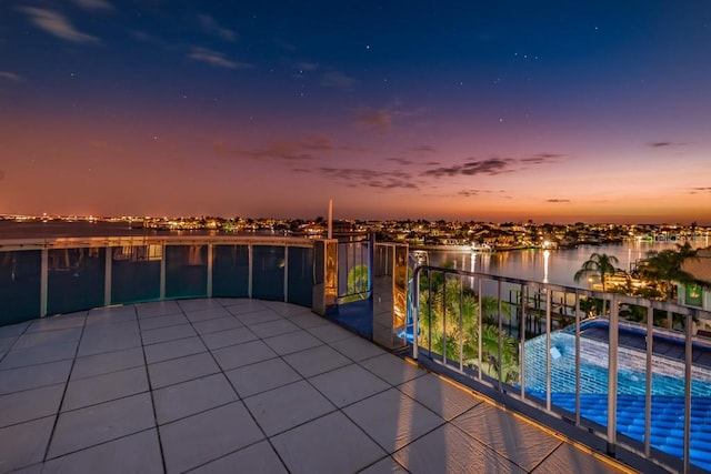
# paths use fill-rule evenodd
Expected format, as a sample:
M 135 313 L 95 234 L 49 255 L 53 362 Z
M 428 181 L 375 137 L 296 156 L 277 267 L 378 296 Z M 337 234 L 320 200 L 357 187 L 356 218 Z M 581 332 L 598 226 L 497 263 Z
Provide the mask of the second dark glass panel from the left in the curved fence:
M 103 248 L 48 251 L 48 314 L 103 306 L 104 255 Z

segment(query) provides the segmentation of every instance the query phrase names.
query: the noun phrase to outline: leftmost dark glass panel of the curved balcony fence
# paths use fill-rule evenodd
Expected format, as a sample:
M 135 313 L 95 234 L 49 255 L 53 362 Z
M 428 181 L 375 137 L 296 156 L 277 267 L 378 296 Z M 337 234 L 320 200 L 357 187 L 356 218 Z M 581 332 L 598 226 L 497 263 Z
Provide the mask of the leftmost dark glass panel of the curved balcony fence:
M 40 315 L 42 252 L 0 252 L 0 326 Z

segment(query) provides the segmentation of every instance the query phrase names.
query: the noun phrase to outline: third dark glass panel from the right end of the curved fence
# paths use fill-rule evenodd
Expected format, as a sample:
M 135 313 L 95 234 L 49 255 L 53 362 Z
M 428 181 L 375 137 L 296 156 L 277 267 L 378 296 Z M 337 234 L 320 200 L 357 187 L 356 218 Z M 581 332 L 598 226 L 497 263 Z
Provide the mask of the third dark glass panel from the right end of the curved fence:
M 212 249 L 212 296 L 249 296 L 249 245 Z

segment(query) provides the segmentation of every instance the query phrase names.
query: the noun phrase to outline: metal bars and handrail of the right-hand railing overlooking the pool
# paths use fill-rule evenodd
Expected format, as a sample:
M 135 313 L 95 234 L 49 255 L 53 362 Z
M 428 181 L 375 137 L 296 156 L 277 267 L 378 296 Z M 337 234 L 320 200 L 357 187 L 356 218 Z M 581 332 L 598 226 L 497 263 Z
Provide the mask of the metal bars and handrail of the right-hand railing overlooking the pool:
M 478 294 L 479 294 L 479 304 L 478 304 L 478 326 L 479 326 L 479 351 L 478 351 L 478 359 L 479 359 L 479 363 L 478 363 L 478 370 L 475 372 L 475 374 L 478 376 L 474 375 L 473 372 L 468 372 L 463 370 L 463 365 L 462 365 L 462 360 L 463 360 L 463 352 L 462 352 L 462 302 L 460 301 L 459 306 L 460 306 L 460 327 L 457 330 L 460 333 L 460 341 L 459 341 L 459 363 L 455 363 L 457 361 L 448 361 L 448 345 L 447 345 L 447 337 L 450 337 L 448 334 L 443 334 L 443 339 L 444 339 L 444 344 L 441 349 L 442 351 L 442 355 L 441 355 L 441 361 L 440 361 L 440 354 L 437 354 L 437 357 L 433 357 L 433 352 L 432 352 L 432 334 L 430 334 L 428 336 L 428 341 L 429 341 L 429 351 L 428 351 L 428 359 L 432 360 L 435 364 L 441 364 L 441 365 L 445 365 L 449 366 L 450 369 L 458 369 L 457 372 L 459 372 L 460 374 L 463 375 L 468 375 L 472 379 L 478 380 L 479 382 L 482 382 L 482 347 L 481 347 L 481 340 L 482 340 L 482 330 L 481 330 L 481 321 L 482 321 L 482 304 L 481 304 L 481 296 L 482 296 L 482 281 L 487 280 L 487 281 L 491 281 L 491 282 L 497 282 L 497 299 L 498 299 L 498 305 L 499 305 L 499 311 L 498 311 L 498 323 L 499 323 L 499 341 L 498 341 L 498 353 L 499 353 L 499 363 L 498 363 L 498 374 L 499 374 L 499 383 L 491 385 L 490 383 L 485 383 L 488 386 L 498 390 L 500 393 L 504 393 L 507 396 L 512 396 L 514 399 L 521 400 L 525 403 L 528 403 L 529 405 L 532 406 L 538 406 L 537 404 L 532 403 L 531 401 L 527 400 L 527 392 L 525 392 L 525 373 L 524 371 L 527 370 L 525 367 L 525 361 L 524 361 L 524 346 L 523 346 L 523 341 L 525 340 L 525 305 L 523 304 L 523 288 L 529 288 L 529 289 L 533 289 L 533 290 L 539 290 L 541 291 L 541 294 L 545 293 L 545 301 L 544 301 L 544 305 L 545 305 L 545 331 L 544 331 L 544 335 L 545 335 L 545 409 L 544 411 L 549 414 L 552 414 L 554 416 L 561 416 L 554 412 L 552 412 L 551 409 L 551 393 L 552 393 L 552 385 L 551 385 L 551 359 L 552 359 L 552 354 L 551 354 L 551 294 L 553 292 L 560 292 L 560 293 L 565 293 L 565 294 L 571 294 L 574 295 L 574 341 L 575 341 L 575 347 L 574 347 L 574 370 L 575 370 L 575 413 L 574 413 L 574 425 L 575 426 L 582 426 L 582 422 L 581 422 L 581 373 L 580 373 L 580 367 L 581 367 L 581 347 L 580 347 L 580 342 L 581 342 L 581 313 L 580 313 L 580 300 L 581 297 L 594 297 L 594 299 L 601 299 L 604 301 L 609 302 L 609 310 L 610 310 L 610 316 L 609 316 L 609 324 L 608 324 L 608 342 L 607 342 L 607 346 L 608 346 L 608 377 L 607 377 L 607 386 L 608 386 L 608 397 L 607 397 L 607 404 L 608 404 L 608 416 L 607 416 L 607 433 L 604 434 L 604 436 L 602 436 L 605 441 L 607 441 L 607 451 L 608 454 L 614 456 L 615 455 L 615 451 L 617 451 L 617 446 L 623 446 L 641 456 L 644 456 L 647 458 L 652 460 L 654 463 L 668 467 L 669 466 L 665 464 L 665 461 L 662 461 L 659 457 L 655 457 L 654 453 L 651 450 L 651 441 L 650 441 L 650 434 L 651 434 L 651 423 L 652 423 L 652 416 L 651 416 L 651 401 L 652 401 L 652 396 L 651 396 L 651 385 L 652 385 L 652 359 L 653 356 L 657 357 L 658 355 L 653 354 L 653 343 L 654 343 L 654 337 L 647 337 L 647 344 L 645 344 L 645 351 L 644 351 L 644 366 L 647 367 L 647 383 L 645 383 L 645 390 L 644 390 L 644 411 L 643 413 L 641 413 L 641 415 L 644 417 L 644 436 L 643 436 L 643 441 L 641 441 L 640 443 L 642 444 L 642 448 L 638 448 L 635 445 L 630 444 L 627 441 L 621 441 L 618 437 L 618 430 L 617 430 L 617 416 L 618 416 L 618 390 L 617 390 L 617 385 L 618 385 L 618 352 L 619 352 L 619 347 L 618 347 L 618 331 L 620 327 L 645 327 L 647 329 L 647 334 L 655 334 L 655 333 L 663 333 L 665 334 L 665 336 L 668 337 L 668 340 L 678 340 L 679 343 L 683 343 L 684 345 L 684 357 L 683 357 L 683 386 L 684 386 L 684 396 L 683 396 L 683 401 L 684 401 L 684 406 L 683 406 L 683 456 L 682 456 L 682 465 L 683 465 L 683 472 L 689 472 L 690 470 L 690 463 L 691 463 L 691 458 L 690 458 L 690 446 L 691 446 L 691 401 L 692 401 L 692 396 L 691 396 L 691 381 L 692 381 L 692 366 L 693 366 L 693 347 L 699 345 L 700 347 L 703 346 L 707 350 L 711 350 L 711 345 L 708 344 L 707 340 L 703 339 L 699 339 L 698 336 L 694 336 L 692 334 L 692 326 L 693 326 L 693 321 L 694 319 L 699 319 L 699 320 L 709 320 L 711 319 L 711 312 L 705 311 L 705 310 L 701 310 L 698 307 L 690 307 L 690 306 L 683 306 L 680 304 L 677 304 L 675 302 L 668 302 L 668 301 L 657 301 L 657 300 L 647 300 L 643 297 L 639 297 L 639 296 L 628 296 L 624 294 L 620 294 L 620 293 L 609 293 L 609 292 L 602 292 L 602 291 L 594 291 L 594 290 L 584 290 L 584 289 L 579 289 L 579 288 L 572 288 L 572 286 L 565 286 L 565 285 L 559 285 L 559 284 L 551 284 L 551 283 L 541 283 L 541 282 L 533 282 L 533 281 L 528 281 L 528 280 L 521 280 L 521 279 L 515 279 L 515 278 L 510 278 L 510 276 L 500 276 L 500 275 L 492 275 L 492 274 L 487 274 L 487 273 L 480 273 L 480 272 L 470 272 L 470 271 L 465 271 L 465 270 L 458 270 L 458 269 L 444 269 L 444 268 L 440 268 L 440 266 L 433 266 L 433 265 L 427 265 L 427 264 L 415 264 L 413 266 L 413 271 L 412 271 L 412 282 L 413 282 L 413 288 L 412 288 L 412 356 L 414 360 L 418 360 L 420 356 L 420 344 L 419 344 L 419 337 L 420 337 L 420 333 L 419 333 L 419 327 L 420 327 L 420 312 L 421 312 L 421 299 L 420 299 L 420 282 L 421 282 L 421 274 L 422 272 L 439 272 L 443 275 L 443 281 L 444 281 L 444 286 L 442 290 L 442 294 L 447 295 L 447 282 L 448 275 L 459 275 L 460 279 L 475 279 L 475 281 L 478 282 L 477 286 L 478 286 Z M 431 282 L 432 279 L 429 279 L 430 281 L 430 289 L 429 289 L 429 301 L 428 304 L 432 305 L 432 289 L 431 289 Z M 460 280 L 463 282 L 463 280 Z M 472 280 L 474 281 L 474 280 Z M 521 353 L 519 354 L 521 357 L 521 369 L 520 369 L 520 377 L 521 377 L 521 390 L 520 390 L 520 396 L 517 395 L 519 393 L 519 391 L 507 391 L 503 387 L 503 376 L 502 376 L 502 363 L 501 363 L 501 357 L 502 357 L 502 295 L 501 295 L 501 286 L 502 284 L 511 284 L 511 285 L 519 285 L 521 288 L 521 300 L 520 302 L 518 301 L 517 297 L 517 303 L 514 304 L 521 304 L 521 314 L 520 314 L 520 321 L 519 324 L 521 325 L 520 327 L 520 337 L 522 337 L 522 342 L 520 343 L 521 346 Z M 427 289 L 424 291 L 428 291 Z M 492 289 L 493 291 L 493 289 Z M 460 293 L 462 292 L 462 288 L 460 288 Z M 460 297 L 463 297 L 460 295 Z M 445 300 L 447 297 L 443 297 L 443 300 Z M 647 307 L 647 321 L 644 325 L 641 324 L 637 324 L 637 325 L 632 325 L 633 323 L 630 322 L 625 322 L 625 321 L 620 321 L 620 315 L 619 315 L 619 307 L 621 304 L 629 304 L 629 305 L 637 305 L 637 306 L 643 306 Z M 439 305 L 439 302 L 438 302 Z M 430 306 L 433 307 L 433 306 Z M 444 307 L 444 302 L 443 302 L 443 307 Z M 451 306 L 450 306 L 451 307 Z M 570 306 L 567 306 L 570 307 Z M 672 335 L 672 331 L 667 331 L 660 327 L 655 327 L 653 325 L 653 314 L 654 314 L 654 310 L 658 311 L 665 311 L 665 312 L 672 312 L 672 313 L 677 313 L 679 315 L 684 316 L 684 333 L 679 334 L 679 335 Z M 431 314 L 431 310 L 428 312 L 428 314 L 430 315 L 430 317 L 432 317 Z M 443 324 L 447 324 L 447 314 L 443 314 L 441 317 L 443 320 Z M 571 315 L 572 316 L 572 315 Z M 430 327 L 430 332 L 432 331 L 432 324 L 428 324 Z M 444 330 L 447 331 L 447 330 Z M 454 333 L 457 333 L 457 331 Z M 543 335 L 541 334 L 541 335 Z M 678 334 L 678 332 L 677 332 Z M 422 335 L 424 336 L 424 335 Z M 438 343 L 439 344 L 439 343 Z M 437 350 L 435 350 L 437 352 Z M 681 362 L 681 360 L 680 360 Z M 531 367 L 528 367 L 529 370 L 531 370 Z M 681 375 L 680 375 L 681 377 Z M 528 395 L 530 396 L 530 395 Z M 540 410 L 540 409 L 539 409 Z M 597 430 L 594 430 L 595 434 L 597 434 Z M 602 433 L 600 433 L 599 435 L 602 435 Z

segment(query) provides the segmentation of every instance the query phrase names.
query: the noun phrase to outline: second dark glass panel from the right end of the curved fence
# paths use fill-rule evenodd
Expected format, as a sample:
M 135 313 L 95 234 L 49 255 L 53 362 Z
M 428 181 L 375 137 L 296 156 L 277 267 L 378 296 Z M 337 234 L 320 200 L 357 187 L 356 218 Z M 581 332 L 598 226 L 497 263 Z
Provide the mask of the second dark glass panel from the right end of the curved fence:
M 284 300 L 284 248 L 252 246 L 252 297 Z

